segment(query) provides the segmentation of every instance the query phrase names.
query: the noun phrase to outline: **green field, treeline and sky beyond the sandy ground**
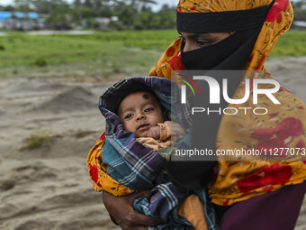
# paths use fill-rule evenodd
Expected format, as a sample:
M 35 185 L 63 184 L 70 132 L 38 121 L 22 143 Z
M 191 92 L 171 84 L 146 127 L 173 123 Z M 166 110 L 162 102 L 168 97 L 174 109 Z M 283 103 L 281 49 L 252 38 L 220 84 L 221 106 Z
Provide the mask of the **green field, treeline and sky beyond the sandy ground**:
M 306 2 L 293 7 L 293 30 L 272 58 L 306 55 Z M 178 37 L 175 0 L 5 0 L 0 35 L 1 77 L 148 72 Z

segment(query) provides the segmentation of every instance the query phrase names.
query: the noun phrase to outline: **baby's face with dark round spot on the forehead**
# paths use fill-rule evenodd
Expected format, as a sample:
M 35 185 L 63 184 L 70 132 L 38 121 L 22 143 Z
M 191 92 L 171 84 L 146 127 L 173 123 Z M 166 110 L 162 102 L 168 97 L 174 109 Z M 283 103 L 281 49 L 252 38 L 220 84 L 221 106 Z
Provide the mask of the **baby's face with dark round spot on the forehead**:
M 118 115 L 126 131 L 136 137 L 147 136 L 150 127 L 164 122 L 164 115 L 157 99 L 148 92 L 139 91 L 125 97 Z

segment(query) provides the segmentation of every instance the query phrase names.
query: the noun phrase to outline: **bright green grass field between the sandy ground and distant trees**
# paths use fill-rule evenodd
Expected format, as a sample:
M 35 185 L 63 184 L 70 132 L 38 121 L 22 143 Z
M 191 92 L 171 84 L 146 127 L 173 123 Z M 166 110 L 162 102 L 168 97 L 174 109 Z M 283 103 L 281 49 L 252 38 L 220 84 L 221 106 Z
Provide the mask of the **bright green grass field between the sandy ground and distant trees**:
M 96 32 L 90 35 L 0 37 L 1 77 L 101 77 L 148 72 L 177 32 Z M 272 58 L 306 55 L 306 32 L 292 31 L 278 41 Z

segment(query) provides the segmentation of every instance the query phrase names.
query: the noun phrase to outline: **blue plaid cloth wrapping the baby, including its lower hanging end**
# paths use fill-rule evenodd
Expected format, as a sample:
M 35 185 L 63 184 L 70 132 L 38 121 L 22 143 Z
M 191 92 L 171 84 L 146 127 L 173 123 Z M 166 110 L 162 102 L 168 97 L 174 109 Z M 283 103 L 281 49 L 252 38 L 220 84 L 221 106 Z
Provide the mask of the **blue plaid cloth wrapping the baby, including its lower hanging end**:
M 190 192 L 176 187 L 172 182 L 163 178 L 161 170 L 166 159 L 158 152 L 138 143 L 134 133 L 124 131 L 116 112 L 121 100 L 131 92 L 138 90 L 153 91 L 160 99 L 160 104 L 171 111 L 171 105 L 175 105 L 171 101 L 173 100 L 171 89 L 174 87 L 177 88 L 176 84 L 166 78 L 125 78 L 109 87 L 99 101 L 100 111 L 106 119 L 102 156 L 103 163 L 108 165 L 107 173 L 112 179 L 130 189 L 136 189 L 136 191 L 151 189 L 148 198 L 135 200 L 134 207 L 139 212 L 162 219 L 166 223 L 147 227 L 148 229 L 194 229 L 187 219 L 177 215 L 178 205 L 187 198 Z M 172 119 L 181 124 L 187 133 L 190 132 L 190 124 L 184 119 L 187 115 L 185 110 L 175 108 L 171 112 Z M 206 202 L 206 199 L 201 200 Z M 211 220 L 211 216 L 207 218 Z

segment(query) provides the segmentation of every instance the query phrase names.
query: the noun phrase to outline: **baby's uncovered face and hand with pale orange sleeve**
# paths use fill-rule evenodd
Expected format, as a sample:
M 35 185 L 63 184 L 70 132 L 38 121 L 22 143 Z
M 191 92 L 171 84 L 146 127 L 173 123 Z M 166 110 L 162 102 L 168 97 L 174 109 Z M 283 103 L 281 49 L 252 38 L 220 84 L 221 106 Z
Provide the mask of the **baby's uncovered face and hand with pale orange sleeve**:
M 169 147 L 184 137 L 184 129 L 179 124 L 166 121 L 166 113 L 153 93 L 130 93 L 121 101 L 117 114 L 124 130 L 134 133 L 139 143 L 154 151 Z

